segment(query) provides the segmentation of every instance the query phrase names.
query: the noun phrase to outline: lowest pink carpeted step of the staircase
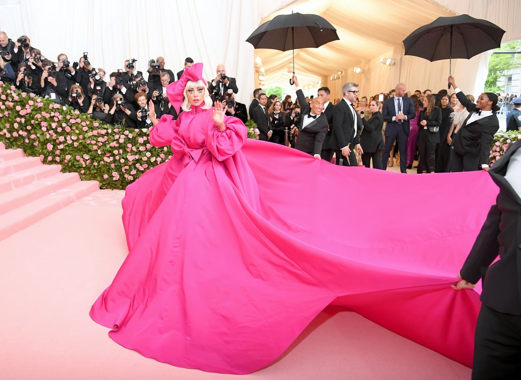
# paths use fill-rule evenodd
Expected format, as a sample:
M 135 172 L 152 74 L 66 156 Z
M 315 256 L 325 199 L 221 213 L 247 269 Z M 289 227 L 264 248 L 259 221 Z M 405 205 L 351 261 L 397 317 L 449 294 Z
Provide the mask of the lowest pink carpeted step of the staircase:
M 98 191 L 97 181 L 80 181 L 0 215 L 0 240 Z

